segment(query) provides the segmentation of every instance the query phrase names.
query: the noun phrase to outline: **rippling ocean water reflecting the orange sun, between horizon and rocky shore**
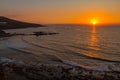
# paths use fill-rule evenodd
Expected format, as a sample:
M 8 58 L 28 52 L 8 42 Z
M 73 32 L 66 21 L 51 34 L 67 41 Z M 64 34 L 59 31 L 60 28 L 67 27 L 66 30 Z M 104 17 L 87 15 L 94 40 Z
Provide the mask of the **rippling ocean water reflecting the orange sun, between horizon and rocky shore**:
M 120 71 L 120 27 L 47 26 L 6 32 L 31 34 L 44 31 L 59 34 L 13 36 L 6 40 L 5 46 L 13 51 L 32 54 L 50 64 L 63 61 L 64 64 L 93 70 Z

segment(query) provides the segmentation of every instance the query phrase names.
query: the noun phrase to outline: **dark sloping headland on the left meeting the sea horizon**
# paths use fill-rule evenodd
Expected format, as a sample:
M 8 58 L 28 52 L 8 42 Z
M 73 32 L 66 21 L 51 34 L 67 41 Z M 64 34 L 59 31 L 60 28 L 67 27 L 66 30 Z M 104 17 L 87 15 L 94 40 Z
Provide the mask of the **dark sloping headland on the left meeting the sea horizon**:
M 16 29 L 16 28 L 28 28 L 28 27 L 43 27 L 43 25 L 17 21 L 6 18 L 4 16 L 0 16 L 0 29 Z

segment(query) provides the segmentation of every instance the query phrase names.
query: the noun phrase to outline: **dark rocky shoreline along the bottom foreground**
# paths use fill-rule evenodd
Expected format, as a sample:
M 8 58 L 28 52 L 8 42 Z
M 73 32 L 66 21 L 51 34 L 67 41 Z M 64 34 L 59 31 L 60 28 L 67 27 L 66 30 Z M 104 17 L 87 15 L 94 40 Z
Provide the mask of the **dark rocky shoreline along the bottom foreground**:
M 0 80 L 120 80 L 120 72 L 87 70 L 59 64 L 29 64 L 0 58 Z

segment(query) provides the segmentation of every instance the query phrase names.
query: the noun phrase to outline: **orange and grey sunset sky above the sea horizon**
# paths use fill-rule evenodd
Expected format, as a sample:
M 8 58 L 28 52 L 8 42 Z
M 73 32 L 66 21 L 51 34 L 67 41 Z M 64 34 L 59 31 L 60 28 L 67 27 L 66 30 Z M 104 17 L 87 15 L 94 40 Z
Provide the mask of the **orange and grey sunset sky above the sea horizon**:
M 120 24 L 120 0 L 0 0 L 0 16 L 42 24 Z

